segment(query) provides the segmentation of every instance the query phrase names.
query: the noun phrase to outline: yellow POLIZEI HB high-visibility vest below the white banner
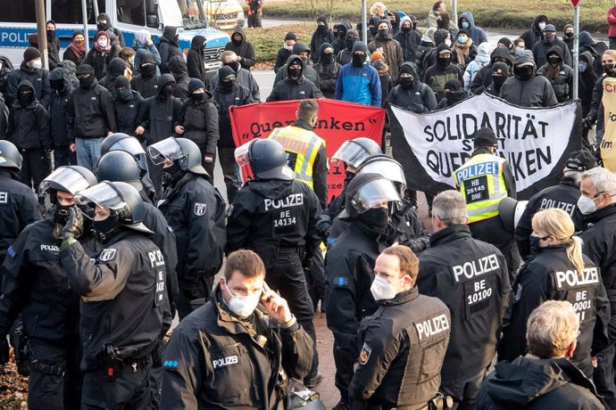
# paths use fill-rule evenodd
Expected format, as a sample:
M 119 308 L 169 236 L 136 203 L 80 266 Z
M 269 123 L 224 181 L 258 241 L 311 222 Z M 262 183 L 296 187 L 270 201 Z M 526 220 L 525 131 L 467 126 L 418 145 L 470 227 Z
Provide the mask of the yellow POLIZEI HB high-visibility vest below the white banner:
M 455 171 L 455 184 L 466 200 L 469 224 L 498 215 L 498 204 L 507 196 L 503 164 L 501 157 L 481 153 Z

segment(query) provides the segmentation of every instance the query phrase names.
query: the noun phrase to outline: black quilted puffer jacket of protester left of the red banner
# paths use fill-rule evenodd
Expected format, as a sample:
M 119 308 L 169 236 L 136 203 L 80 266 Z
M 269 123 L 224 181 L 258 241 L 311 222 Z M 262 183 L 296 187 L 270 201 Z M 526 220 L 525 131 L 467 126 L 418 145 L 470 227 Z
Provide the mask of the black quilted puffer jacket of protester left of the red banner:
M 196 103 L 190 98 L 182 104 L 179 116 L 173 127 L 184 127 L 184 138 L 196 143 L 204 156 L 216 156 L 219 124 L 218 110 L 212 100 L 212 93 L 205 91 L 204 102 Z

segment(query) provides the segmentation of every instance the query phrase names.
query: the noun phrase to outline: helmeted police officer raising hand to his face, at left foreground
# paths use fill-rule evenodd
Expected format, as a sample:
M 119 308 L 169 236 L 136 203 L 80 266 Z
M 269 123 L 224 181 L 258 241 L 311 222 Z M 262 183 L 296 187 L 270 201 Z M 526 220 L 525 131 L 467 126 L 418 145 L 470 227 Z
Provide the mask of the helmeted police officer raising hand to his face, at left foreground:
M 166 296 L 162 252 L 142 223 L 143 200 L 131 185 L 103 182 L 76 199 L 94 206 L 91 224 L 98 242 L 95 249 L 77 241 L 84 214 L 71 209 L 60 258 L 81 297 L 81 406 L 149 408 L 148 373 Z

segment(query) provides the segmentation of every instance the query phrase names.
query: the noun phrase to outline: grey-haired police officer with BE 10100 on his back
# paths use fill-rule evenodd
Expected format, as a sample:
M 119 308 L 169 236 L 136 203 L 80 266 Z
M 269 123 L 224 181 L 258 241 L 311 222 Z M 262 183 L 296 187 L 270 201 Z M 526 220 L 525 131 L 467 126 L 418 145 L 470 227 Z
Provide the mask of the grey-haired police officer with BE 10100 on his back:
M 451 408 L 474 408 L 512 290 L 503 254 L 473 239 L 466 204 L 455 191 L 432 203 L 430 248 L 420 254 L 420 293 L 437 297 L 451 312 L 452 337 L 441 370 L 441 393 Z

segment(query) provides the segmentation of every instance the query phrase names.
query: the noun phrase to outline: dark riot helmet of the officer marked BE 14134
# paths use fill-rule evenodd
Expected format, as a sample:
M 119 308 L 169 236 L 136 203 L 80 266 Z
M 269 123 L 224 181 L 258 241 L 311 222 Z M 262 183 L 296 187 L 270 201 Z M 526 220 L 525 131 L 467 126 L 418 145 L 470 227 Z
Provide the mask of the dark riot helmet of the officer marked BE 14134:
M 295 173 L 287 166 L 287 152 L 278 141 L 255 138 L 237 147 L 235 157 L 237 165 L 240 168 L 249 165 L 257 179 L 295 178 Z

